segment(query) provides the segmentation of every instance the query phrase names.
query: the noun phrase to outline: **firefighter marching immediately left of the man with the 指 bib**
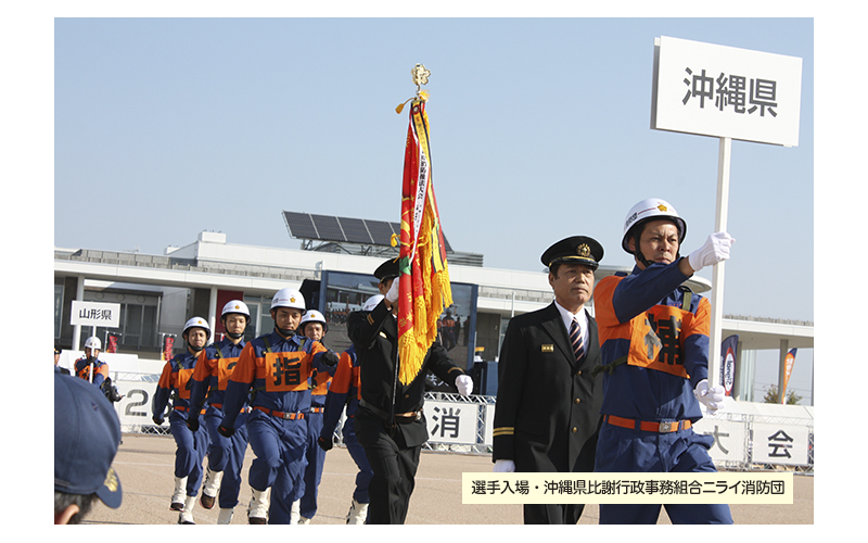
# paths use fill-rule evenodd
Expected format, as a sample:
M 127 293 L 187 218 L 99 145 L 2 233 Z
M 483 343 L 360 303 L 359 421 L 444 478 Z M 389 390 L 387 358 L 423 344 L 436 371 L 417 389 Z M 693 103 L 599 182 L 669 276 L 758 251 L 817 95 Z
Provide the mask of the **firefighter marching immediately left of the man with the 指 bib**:
M 205 482 L 202 484 L 202 507 L 214 507 L 219 491 L 220 514 L 218 525 L 232 521 L 232 513 L 238 505 L 241 491 L 241 467 L 247 451 L 247 429 L 244 426 L 250 407 L 245 404 L 235 420 L 235 433 L 225 438 L 217 431 L 224 418 L 224 395 L 229 376 L 238 363 L 244 349 L 244 330 L 251 319 L 247 305 L 241 300 L 232 300 L 224 305 L 220 321 L 226 328 L 226 337 L 205 348 L 199 355 L 199 362 L 191 378 L 190 405 L 193 406 L 187 417 L 187 426 L 191 430 L 199 429 L 199 415 L 207 401 L 205 427 L 210 439 L 208 447 L 208 467 L 205 470 Z

